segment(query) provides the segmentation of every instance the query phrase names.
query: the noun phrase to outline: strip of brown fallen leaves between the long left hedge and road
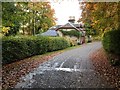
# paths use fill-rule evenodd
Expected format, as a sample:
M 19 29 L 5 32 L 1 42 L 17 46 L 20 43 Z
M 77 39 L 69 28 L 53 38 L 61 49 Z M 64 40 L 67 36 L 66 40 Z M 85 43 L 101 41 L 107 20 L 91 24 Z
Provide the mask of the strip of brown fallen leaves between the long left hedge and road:
M 20 77 L 28 74 L 39 66 L 40 63 L 51 59 L 61 52 L 54 52 L 51 54 L 38 55 L 18 62 L 4 65 L 2 67 L 2 88 L 14 88 Z

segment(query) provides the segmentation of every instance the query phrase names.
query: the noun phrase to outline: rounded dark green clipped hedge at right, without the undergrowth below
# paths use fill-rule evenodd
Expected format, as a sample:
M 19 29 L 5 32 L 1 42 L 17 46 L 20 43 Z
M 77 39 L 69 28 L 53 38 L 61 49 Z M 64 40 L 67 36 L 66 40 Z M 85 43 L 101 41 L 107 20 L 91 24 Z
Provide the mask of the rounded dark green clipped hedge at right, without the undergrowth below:
M 106 32 L 102 43 L 107 52 L 120 55 L 120 30 Z

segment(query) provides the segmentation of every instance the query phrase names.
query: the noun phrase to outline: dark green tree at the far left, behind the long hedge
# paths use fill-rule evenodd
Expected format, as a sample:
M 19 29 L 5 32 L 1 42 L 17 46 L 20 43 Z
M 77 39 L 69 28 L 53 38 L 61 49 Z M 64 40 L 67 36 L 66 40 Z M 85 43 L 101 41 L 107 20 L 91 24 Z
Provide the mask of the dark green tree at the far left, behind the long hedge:
M 15 35 L 19 31 L 20 17 L 17 15 L 19 9 L 15 7 L 15 2 L 2 2 L 2 25 L 9 27 L 6 36 Z

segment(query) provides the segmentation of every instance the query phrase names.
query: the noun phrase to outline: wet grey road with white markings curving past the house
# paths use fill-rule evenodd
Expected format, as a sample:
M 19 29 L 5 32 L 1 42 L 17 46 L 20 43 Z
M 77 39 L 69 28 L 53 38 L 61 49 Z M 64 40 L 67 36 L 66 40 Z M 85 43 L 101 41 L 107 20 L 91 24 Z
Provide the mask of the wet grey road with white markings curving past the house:
M 101 47 L 101 42 L 93 42 L 65 51 L 22 77 L 15 88 L 110 88 L 89 58 Z

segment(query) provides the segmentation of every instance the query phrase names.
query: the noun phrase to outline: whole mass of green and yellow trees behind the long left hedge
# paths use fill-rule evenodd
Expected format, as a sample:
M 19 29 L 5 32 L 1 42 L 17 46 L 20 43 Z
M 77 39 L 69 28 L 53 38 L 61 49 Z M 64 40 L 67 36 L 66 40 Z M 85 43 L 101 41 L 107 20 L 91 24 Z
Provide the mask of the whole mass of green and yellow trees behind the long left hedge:
M 54 10 L 49 2 L 2 2 L 4 35 L 34 35 L 55 25 Z

